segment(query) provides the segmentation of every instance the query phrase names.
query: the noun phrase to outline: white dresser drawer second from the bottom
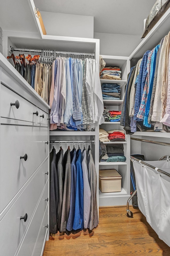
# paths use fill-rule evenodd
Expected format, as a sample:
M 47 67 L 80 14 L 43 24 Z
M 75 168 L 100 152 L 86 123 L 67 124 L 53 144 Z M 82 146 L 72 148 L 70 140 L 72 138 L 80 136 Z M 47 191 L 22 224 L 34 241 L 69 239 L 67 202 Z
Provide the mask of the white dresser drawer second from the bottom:
M 16 254 L 16 256 L 32 255 L 42 223 L 43 223 L 42 228 L 44 229 L 44 238 L 45 238 L 45 232 L 47 230 L 47 227 L 45 227 L 45 226 L 47 226 L 48 220 L 47 220 L 47 218 L 45 218 L 44 222 L 42 222 L 42 221 L 43 221 L 43 217 L 45 214 L 44 199 L 46 198 L 46 193 L 47 193 L 47 191 L 44 191 L 44 194 L 39 202 L 37 210 L 33 216 L 31 224 L 28 228 L 28 231 L 24 237 L 22 245 L 21 245 L 18 253 Z M 46 212 L 48 212 L 48 206 L 46 207 Z M 40 256 L 40 254 L 39 254 L 39 256 Z

